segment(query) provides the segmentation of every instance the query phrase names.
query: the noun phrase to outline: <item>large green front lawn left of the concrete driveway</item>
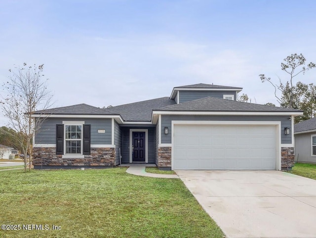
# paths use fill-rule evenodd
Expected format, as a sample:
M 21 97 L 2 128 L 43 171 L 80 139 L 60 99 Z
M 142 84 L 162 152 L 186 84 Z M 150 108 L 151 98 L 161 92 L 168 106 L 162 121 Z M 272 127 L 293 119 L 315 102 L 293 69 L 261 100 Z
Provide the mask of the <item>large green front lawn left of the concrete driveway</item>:
M 224 236 L 180 179 L 125 170 L 2 171 L 0 224 L 47 224 L 61 230 L 0 230 L 0 237 Z

